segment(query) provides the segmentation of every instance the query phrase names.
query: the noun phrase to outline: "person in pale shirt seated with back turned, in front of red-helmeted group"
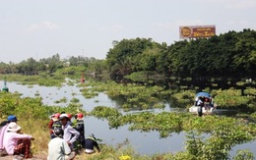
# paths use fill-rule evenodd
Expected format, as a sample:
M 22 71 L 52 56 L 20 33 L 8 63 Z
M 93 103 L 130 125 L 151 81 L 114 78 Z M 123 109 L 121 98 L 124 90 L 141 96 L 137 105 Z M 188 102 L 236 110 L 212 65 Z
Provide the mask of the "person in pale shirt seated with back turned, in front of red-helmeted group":
M 48 157 L 47 160 L 71 160 L 74 159 L 76 154 L 72 152 L 69 144 L 63 139 L 63 130 L 55 129 L 53 131 L 54 138 L 52 138 L 48 143 Z

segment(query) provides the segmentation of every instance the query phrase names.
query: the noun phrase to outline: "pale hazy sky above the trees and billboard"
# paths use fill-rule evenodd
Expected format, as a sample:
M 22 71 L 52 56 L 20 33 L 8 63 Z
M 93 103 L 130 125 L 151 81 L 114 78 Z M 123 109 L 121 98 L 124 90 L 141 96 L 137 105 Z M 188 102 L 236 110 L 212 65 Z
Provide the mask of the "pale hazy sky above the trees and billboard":
M 105 59 L 114 40 L 168 45 L 182 26 L 256 29 L 256 0 L 0 0 L 0 62 L 57 53 Z

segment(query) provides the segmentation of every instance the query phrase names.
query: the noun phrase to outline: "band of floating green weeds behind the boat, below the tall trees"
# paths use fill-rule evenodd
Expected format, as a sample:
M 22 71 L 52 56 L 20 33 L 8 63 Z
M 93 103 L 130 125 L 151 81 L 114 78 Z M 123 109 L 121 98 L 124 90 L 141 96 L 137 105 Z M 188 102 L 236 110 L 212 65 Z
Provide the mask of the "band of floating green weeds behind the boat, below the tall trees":
M 81 89 L 86 98 L 93 98 L 99 92 L 104 92 L 116 101 L 125 111 L 133 109 L 162 108 L 163 103 L 170 103 L 175 108 L 189 108 L 194 103 L 196 91 L 187 88 L 166 89 L 162 86 L 146 86 L 136 83 L 87 82 Z M 240 111 L 255 112 L 255 88 L 241 89 L 204 89 L 214 97 L 219 109 L 238 109 Z

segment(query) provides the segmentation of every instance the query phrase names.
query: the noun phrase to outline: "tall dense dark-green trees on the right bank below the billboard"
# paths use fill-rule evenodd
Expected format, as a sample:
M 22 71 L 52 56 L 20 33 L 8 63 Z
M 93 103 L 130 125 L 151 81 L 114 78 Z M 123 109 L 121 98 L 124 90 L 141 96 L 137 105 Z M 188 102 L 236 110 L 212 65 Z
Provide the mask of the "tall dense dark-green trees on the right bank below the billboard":
M 112 79 L 142 71 L 194 80 L 255 78 L 256 31 L 228 31 L 169 46 L 151 38 L 123 39 L 113 43 L 106 61 Z

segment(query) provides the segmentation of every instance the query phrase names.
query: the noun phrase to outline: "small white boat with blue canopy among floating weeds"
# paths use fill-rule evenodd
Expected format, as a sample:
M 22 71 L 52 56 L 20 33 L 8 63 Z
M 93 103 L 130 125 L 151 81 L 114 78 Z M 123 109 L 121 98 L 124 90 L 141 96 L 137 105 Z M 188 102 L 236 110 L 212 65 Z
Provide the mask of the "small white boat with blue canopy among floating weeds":
M 204 102 L 204 106 L 202 107 L 203 114 L 213 114 L 216 109 L 216 105 L 214 104 L 214 100 L 208 92 L 198 92 L 196 94 L 195 103 L 189 108 L 189 112 L 198 114 L 200 106 L 197 104 L 197 102 L 199 99 L 202 99 Z

